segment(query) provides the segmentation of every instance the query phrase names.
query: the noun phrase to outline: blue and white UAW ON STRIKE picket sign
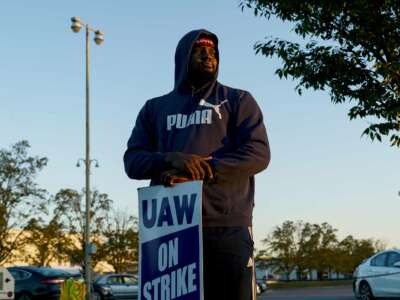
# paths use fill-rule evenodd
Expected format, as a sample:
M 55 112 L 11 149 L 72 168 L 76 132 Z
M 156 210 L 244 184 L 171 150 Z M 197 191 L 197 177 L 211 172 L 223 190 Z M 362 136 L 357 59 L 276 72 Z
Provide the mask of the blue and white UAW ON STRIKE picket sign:
M 139 300 L 203 300 L 201 181 L 139 191 Z

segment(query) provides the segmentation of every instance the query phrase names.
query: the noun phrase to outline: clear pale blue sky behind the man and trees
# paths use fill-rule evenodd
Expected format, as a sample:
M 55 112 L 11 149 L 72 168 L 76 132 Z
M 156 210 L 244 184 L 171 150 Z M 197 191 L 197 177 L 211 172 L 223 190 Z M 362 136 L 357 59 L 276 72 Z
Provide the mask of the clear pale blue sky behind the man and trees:
M 286 220 L 328 222 L 338 237 L 374 238 L 400 248 L 399 149 L 361 137 L 367 120 L 349 121 L 349 105 L 274 74 L 280 62 L 255 55 L 266 36 L 298 40 L 291 24 L 256 18 L 238 1 L 2 1 L 0 148 L 26 139 L 49 158 L 37 181 L 49 193 L 81 189 L 85 153 L 84 34 L 80 16 L 104 32 L 90 43 L 92 186 L 117 209 L 137 215 L 137 188 L 122 156 L 139 109 L 173 87 L 174 53 L 188 31 L 217 34 L 219 81 L 248 90 L 264 114 L 272 159 L 256 176 L 254 239 L 261 249 Z

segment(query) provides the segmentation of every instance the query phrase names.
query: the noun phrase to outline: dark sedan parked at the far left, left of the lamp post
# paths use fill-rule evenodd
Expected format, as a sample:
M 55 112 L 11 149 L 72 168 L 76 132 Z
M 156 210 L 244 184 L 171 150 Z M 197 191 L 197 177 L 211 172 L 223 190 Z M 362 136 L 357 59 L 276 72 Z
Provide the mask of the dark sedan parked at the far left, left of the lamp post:
M 15 279 L 15 300 L 59 300 L 60 285 L 67 278 L 78 276 L 47 267 L 10 267 Z

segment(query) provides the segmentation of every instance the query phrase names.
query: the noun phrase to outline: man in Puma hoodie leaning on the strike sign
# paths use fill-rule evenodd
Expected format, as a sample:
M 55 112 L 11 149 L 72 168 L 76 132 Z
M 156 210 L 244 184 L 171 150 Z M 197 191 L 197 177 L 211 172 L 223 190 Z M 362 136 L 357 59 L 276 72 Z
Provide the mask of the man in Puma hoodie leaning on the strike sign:
M 249 300 L 254 175 L 267 167 L 270 151 L 257 103 L 220 84 L 218 65 L 215 34 L 194 30 L 179 41 L 174 89 L 140 111 L 125 171 L 152 185 L 204 180 L 204 299 Z

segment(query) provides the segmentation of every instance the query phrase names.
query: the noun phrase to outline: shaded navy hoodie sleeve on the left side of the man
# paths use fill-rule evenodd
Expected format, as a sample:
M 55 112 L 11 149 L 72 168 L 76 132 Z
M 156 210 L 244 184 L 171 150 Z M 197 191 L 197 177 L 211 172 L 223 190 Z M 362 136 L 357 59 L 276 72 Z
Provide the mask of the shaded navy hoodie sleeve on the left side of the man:
M 165 168 L 165 154 L 156 151 L 149 106 L 148 101 L 140 111 L 124 154 L 125 172 L 132 179 L 158 178 Z

